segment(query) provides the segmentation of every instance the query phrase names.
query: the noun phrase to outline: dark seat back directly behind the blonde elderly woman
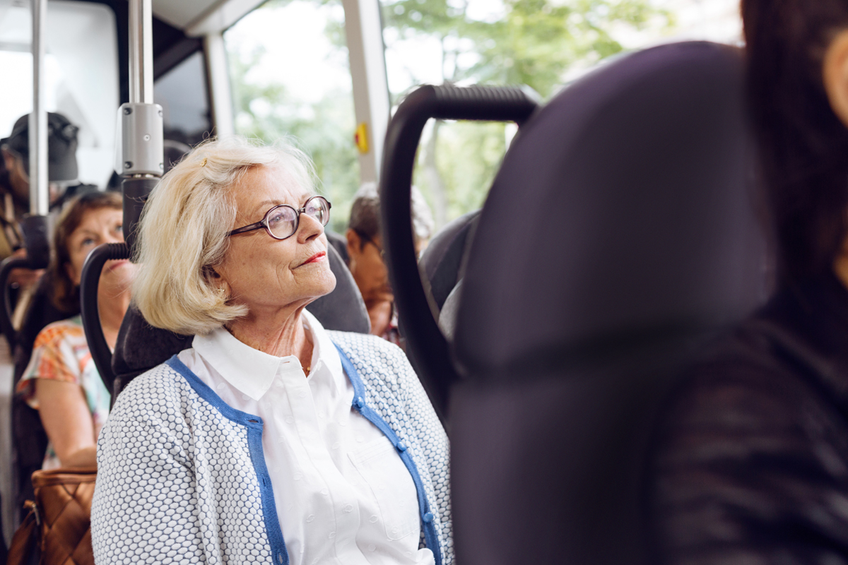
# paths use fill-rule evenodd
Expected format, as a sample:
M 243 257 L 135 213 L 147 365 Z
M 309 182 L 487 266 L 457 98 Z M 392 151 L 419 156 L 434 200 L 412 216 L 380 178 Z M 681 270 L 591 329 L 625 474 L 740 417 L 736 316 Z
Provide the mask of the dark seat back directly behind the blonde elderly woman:
M 371 322 L 353 275 L 339 257 L 327 246 L 330 269 L 336 275 L 336 288 L 309 306 L 309 311 L 327 330 L 353 331 L 367 334 Z M 135 307 L 131 307 L 120 326 L 118 342 L 112 356 L 114 383 L 106 383 L 114 391 L 112 402 L 137 375 L 164 363 L 172 355 L 192 346 L 192 335 L 177 335 L 153 328 Z

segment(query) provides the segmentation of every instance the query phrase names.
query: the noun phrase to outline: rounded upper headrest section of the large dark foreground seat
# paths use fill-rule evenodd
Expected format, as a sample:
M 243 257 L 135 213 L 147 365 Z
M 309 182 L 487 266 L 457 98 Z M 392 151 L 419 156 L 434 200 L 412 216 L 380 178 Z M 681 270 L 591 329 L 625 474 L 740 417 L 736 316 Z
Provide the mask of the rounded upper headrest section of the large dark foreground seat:
M 762 301 L 742 64 L 706 42 L 634 53 L 522 127 L 471 246 L 456 352 L 472 374 Z

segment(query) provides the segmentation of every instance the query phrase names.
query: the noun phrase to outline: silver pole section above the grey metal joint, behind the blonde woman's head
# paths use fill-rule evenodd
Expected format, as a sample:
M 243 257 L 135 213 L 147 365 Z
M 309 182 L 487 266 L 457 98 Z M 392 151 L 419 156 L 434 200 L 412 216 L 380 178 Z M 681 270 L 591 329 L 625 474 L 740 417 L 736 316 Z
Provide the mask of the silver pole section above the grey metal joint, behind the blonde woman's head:
M 153 103 L 151 0 L 130 0 L 130 102 Z

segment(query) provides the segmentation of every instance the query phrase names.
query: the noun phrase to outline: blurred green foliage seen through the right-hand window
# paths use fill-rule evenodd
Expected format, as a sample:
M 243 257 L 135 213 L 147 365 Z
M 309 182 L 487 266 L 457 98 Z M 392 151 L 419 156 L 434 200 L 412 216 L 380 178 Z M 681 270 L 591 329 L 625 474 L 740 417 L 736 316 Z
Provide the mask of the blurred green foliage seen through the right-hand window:
M 674 23 L 672 14 L 648 0 L 505 0 L 503 17 L 493 21 L 471 19 L 463 0 L 388 0 L 382 6 L 385 29 L 394 31 L 386 34 L 393 38 L 387 48 L 435 39 L 444 82 L 527 85 L 544 99 L 561 88 L 574 65 L 585 68 L 620 53 L 616 27 Z M 415 69 L 407 70 L 421 82 Z M 456 123 L 428 131 L 438 138 L 422 140 L 414 180 L 435 208 L 437 224 L 444 224 L 483 205 L 506 150 L 505 125 Z

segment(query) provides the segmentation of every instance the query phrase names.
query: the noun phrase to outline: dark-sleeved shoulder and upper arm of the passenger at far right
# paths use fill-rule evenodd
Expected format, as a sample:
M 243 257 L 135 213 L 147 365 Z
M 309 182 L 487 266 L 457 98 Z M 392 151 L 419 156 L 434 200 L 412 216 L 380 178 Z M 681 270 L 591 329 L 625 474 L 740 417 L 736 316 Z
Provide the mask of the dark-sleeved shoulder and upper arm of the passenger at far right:
M 664 551 L 754 555 L 762 547 L 751 532 L 768 544 L 789 529 L 843 536 L 845 517 L 826 501 L 848 493 L 845 388 L 840 397 L 828 383 L 844 373 L 805 337 L 757 315 L 681 375 L 652 456 Z M 675 528 L 681 520 L 685 532 Z

